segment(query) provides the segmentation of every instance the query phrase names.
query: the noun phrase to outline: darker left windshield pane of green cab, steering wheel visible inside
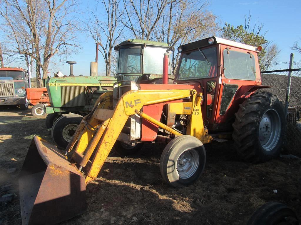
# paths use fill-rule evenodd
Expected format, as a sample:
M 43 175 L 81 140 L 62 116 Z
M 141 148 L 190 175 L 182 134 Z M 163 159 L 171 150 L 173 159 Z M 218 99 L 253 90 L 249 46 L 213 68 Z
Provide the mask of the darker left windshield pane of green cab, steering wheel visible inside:
M 141 48 L 119 49 L 117 73 L 141 74 Z

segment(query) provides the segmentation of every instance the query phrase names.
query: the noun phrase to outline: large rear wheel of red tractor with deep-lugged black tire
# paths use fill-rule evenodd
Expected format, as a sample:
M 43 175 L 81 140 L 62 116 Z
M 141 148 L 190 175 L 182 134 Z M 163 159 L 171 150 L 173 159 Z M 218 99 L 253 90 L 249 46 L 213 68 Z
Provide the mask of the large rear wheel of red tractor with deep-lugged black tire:
M 232 137 L 241 158 L 258 163 L 279 156 L 285 119 L 283 104 L 276 95 L 269 92 L 251 95 L 240 104 L 235 117 Z

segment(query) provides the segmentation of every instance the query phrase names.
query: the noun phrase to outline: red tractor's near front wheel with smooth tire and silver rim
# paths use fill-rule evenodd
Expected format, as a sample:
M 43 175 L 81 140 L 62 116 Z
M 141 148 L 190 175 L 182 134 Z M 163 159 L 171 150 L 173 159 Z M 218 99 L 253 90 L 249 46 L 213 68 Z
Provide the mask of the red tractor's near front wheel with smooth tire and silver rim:
M 183 135 L 172 139 L 160 158 L 160 172 L 164 181 L 173 187 L 195 182 L 203 173 L 206 151 L 196 137 Z

